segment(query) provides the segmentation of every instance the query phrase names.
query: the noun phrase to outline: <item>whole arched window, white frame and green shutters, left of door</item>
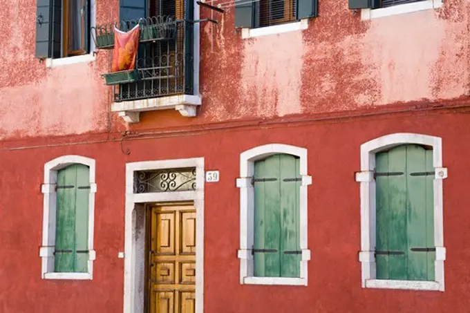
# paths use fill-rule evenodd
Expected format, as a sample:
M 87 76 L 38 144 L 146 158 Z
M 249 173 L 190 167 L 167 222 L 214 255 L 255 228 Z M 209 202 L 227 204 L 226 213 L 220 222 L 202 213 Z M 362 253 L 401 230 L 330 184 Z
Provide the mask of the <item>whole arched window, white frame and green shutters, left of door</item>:
M 44 169 L 42 277 L 92 279 L 95 161 L 66 155 Z

